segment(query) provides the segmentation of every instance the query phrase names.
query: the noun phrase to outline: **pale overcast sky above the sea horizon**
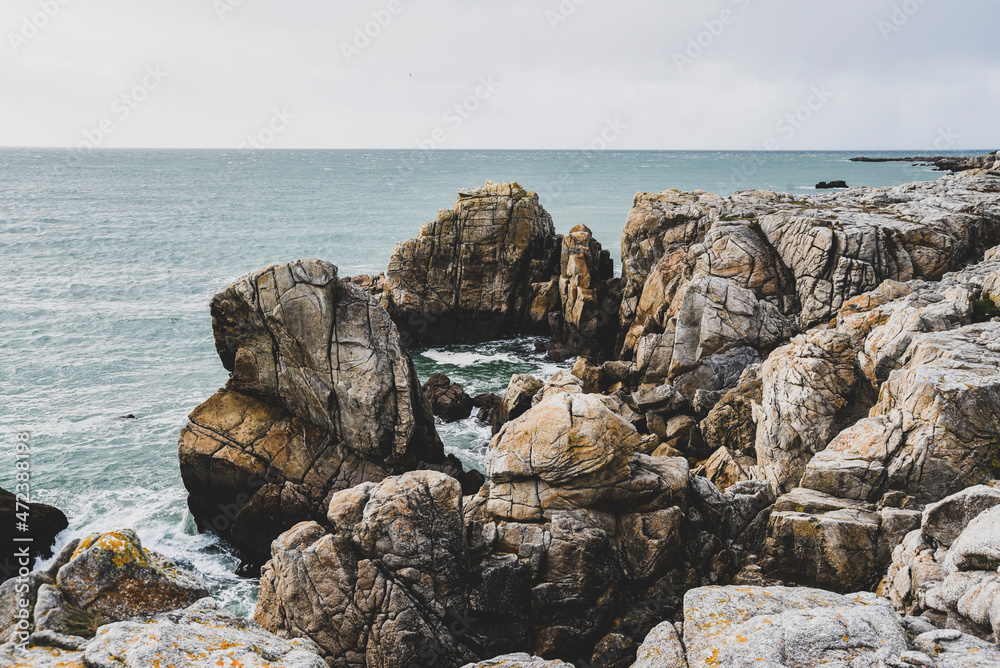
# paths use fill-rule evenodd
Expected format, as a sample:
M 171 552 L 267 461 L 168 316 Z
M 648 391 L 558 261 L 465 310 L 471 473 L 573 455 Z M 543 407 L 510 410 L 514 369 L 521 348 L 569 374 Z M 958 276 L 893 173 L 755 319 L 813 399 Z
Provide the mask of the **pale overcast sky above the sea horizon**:
M 1000 0 L 3 0 L 0 146 L 1000 148 Z

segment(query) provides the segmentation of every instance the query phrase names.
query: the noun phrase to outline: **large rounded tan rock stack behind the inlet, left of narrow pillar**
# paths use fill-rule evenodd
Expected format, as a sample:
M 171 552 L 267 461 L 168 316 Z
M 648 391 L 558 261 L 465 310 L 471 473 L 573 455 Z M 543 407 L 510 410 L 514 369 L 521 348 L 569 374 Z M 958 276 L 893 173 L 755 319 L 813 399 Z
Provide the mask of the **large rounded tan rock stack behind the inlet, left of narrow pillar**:
M 491 181 L 461 190 L 452 209 L 396 245 L 383 304 L 407 345 L 519 334 L 532 285 L 559 273 L 557 243 L 535 193 Z

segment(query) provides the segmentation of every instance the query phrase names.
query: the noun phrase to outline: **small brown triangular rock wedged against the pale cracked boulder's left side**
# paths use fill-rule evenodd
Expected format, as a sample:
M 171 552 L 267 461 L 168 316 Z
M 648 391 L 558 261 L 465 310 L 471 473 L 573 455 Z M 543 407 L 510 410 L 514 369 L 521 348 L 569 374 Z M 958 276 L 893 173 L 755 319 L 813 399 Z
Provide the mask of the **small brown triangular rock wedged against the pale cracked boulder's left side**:
M 757 424 L 753 420 L 753 404 L 762 400 L 760 365 L 751 365 L 740 376 L 736 387 L 727 392 L 701 421 L 705 446 L 713 452 L 719 448 L 731 448 L 734 452 L 755 456 Z

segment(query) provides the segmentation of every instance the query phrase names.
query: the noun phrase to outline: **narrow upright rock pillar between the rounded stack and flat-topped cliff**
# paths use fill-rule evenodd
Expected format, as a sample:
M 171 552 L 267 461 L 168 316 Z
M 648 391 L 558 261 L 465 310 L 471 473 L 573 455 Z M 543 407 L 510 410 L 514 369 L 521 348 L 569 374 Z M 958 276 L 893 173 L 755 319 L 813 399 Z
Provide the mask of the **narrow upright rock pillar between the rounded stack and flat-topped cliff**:
M 559 295 L 562 323 L 559 342 L 570 352 L 602 360 L 614 353 L 620 298 L 614 263 L 586 225 L 562 239 Z

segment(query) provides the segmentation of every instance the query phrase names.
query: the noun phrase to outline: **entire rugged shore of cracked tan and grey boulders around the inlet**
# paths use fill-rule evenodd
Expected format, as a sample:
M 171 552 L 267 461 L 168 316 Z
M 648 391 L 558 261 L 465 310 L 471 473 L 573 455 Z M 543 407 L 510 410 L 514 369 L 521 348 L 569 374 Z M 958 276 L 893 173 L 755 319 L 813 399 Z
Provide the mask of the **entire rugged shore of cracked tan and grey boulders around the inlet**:
M 639 193 L 620 276 L 492 182 L 384 274 L 244 276 L 178 455 L 253 621 L 123 530 L 0 586 L 4 665 L 1000 666 L 993 158 Z M 572 372 L 472 398 L 408 353 L 523 335 Z M 475 407 L 483 472 L 435 427 Z

